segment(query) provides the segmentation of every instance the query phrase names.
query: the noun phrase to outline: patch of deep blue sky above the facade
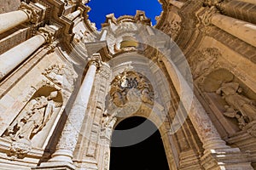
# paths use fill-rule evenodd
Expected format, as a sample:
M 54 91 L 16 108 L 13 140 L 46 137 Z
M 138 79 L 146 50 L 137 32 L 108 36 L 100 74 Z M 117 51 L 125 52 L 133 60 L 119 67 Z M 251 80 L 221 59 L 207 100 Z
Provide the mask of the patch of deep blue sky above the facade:
M 154 17 L 160 15 L 162 10 L 158 0 L 90 0 L 87 5 L 91 8 L 89 19 L 96 23 L 98 29 L 106 19 L 106 14 L 114 13 L 118 18 L 121 15 L 135 15 L 136 10 L 143 10 L 146 16 L 155 25 Z

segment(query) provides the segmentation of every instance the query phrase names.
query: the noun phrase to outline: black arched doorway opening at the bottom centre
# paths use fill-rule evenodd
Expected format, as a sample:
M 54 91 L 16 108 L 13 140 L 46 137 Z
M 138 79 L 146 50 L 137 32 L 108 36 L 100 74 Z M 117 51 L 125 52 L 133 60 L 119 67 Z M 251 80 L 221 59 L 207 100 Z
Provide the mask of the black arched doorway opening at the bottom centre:
M 110 170 L 168 170 L 166 153 L 160 138 L 160 132 L 153 122 L 140 116 L 133 116 L 120 122 L 115 130 L 126 130 L 142 123 L 148 123 L 147 127 L 154 127 L 155 132 L 138 144 L 125 147 L 111 147 Z M 144 129 L 147 131 L 147 129 Z M 132 135 L 139 135 L 134 133 Z M 131 136 L 130 138 L 133 138 Z M 112 135 L 112 143 L 120 140 L 115 131 Z M 127 138 L 127 137 L 125 137 Z

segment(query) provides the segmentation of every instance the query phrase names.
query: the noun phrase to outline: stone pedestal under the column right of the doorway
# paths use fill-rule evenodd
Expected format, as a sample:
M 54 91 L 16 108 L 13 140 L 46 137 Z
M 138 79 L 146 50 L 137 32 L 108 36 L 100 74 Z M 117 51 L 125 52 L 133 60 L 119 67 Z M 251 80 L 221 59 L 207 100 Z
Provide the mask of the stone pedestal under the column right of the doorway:
M 253 170 L 249 153 L 238 148 L 206 150 L 201 157 L 201 166 L 206 170 Z

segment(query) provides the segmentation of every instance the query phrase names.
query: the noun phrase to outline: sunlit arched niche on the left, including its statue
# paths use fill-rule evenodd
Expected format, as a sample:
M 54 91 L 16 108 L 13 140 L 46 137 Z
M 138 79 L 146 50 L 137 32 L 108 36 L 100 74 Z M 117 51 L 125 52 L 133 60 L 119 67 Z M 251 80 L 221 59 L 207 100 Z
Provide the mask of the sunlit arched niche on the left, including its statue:
M 42 147 L 62 105 L 61 91 L 45 83 L 32 95 L 2 137 L 13 143 Z

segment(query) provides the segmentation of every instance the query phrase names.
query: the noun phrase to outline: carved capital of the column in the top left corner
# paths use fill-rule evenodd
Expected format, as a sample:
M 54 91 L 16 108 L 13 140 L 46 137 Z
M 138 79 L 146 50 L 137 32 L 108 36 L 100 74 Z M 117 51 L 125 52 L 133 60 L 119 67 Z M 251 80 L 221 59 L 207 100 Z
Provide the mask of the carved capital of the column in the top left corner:
M 38 23 L 40 16 L 38 14 L 38 11 L 35 8 L 33 8 L 31 5 L 21 2 L 19 9 L 27 14 L 28 20 L 30 22 L 32 22 L 33 24 Z

